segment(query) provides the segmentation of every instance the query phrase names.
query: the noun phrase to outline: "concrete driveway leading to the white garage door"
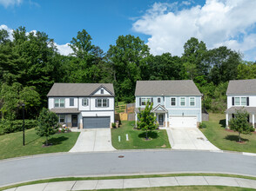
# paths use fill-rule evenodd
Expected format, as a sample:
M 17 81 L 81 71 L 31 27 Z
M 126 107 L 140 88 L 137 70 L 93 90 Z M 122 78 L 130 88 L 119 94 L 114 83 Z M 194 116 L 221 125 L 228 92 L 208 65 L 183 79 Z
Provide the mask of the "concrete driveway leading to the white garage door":
M 167 128 L 173 149 L 219 150 L 207 140 L 199 128 Z

